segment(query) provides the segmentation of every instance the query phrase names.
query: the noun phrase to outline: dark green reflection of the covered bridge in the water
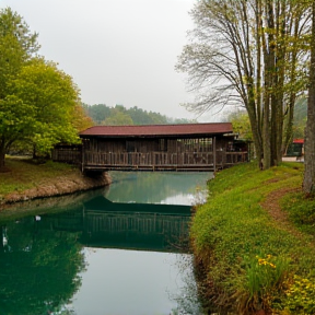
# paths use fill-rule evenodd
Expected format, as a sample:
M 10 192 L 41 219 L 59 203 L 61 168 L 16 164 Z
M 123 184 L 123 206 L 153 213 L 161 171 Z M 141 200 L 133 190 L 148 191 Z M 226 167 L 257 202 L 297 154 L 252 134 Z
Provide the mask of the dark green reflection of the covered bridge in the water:
M 112 202 L 98 196 L 80 210 L 46 214 L 42 223 L 49 221 L 54 230 L 82 232 L 79 242 L 88 247 L 183 253 L 188 247 L 190 209 Z

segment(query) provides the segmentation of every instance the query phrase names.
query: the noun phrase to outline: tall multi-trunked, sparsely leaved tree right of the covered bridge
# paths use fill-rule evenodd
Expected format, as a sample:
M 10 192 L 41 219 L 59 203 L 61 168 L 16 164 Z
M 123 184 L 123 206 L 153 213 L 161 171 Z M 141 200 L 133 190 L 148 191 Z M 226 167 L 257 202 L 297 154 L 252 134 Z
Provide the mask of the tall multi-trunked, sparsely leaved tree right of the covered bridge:
M 191 15 L 197 27 L 177 63 L 198 92 L 188 109 L 245 107 L 260 165 L 277 165 L 305 82 L 307 3 L 205 0 L 196 3 Z

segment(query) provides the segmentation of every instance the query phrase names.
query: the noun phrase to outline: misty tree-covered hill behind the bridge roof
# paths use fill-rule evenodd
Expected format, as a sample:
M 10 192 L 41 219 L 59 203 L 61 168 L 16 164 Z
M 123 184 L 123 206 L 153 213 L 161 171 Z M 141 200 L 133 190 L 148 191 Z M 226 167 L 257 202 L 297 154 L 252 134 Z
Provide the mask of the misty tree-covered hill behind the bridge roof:
M 185 118 L 170 118 L 155 112 L 148 112 L 137 106 L 127 109 L 122 105 L 109 107 L 105 104 L 83 104 L 86 114 L 95 125 L 122 126 L 122 125 L 166 125 L 166 124 L 192 124 L 196 120 Z

